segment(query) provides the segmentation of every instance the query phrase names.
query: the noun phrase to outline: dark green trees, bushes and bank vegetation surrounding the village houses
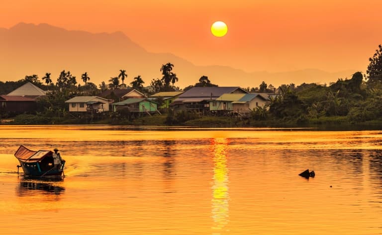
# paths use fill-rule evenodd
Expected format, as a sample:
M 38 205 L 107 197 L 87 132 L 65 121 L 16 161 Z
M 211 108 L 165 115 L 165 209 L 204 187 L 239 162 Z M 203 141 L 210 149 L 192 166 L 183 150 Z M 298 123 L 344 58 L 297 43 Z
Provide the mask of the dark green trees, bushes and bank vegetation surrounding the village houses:
M 152 79 L 150 88 L 143 87 L 143 79 L 138 75 L 129 83 L 133 88 L 150 95 L 160 91 L 179 90 L 175 87 L 178 78 L 173 73 L 174 65 L 167 63 L 162 65 L 160 71 L 162 78 Z M 16 116 L 15 123 L 38 124 L 38 123 L 86 123 L 89 121 L 103 121 L 110 124 L 147 124 L 150 120 L 161 120 L 165 125 L 202 125 L 212 126 L 258 126 L 280 124 L 321 124 L 321 123 L 365 123 L 382 122 L 382 47 L 370 58 L 367 76 L 361 72 L 353 74 L 350 79 L 339 78 L 329 86 L 316 83 L 302 83 L 298 86 L 283 84 L 278 88 L 267 85 L 263 81 L 259 87 L 245 88 L 249 92 L 263 92 L 269 94 L 269 101 L 264 107 L 257 107 L 247 116 L 235 117 L 212 117 L 195 111 L 162 110 L 165 115 L 162 118 L 150 119 L 150 117 L 134 116 L 131 113 L 119 112 L 98 116 L 76 116 L 68 112 L 65 100 L 76 95 L 96 95 L 99 92 L 111 88 L 118 89 L 125 86 L 126 71 L 120 70 L 119 75 L 111 77 L 109 83 L 102 82 L 98 87 L 89 82 L 90 77 L 84 73 L 81 78 L 84 85 L 78 84 L 76 77 L 70 71 L 62 71 L 54 83 L 50 73 L 46 73 L 41 82 L 37 75 L 25 76 L 18 81 L 0 81 L 0 93 L 6 94 L 21 86 L 25 82 L 32 82 L 38 87 L 49 90 L 49 98 L 38 101 L 38 110 L 34 113 L 17 116 L 17 113 L 0 113 L 0 118 Z M 122 84 L 119 82 L 122 78 Z M 194 85 L 185 87 L 184 90 L 194 86 L 217 86 L 211 83 L 206 76 L 201 76 Z M 111 96 L 115 94 L 112 92 Z M 163 100 L 158 100 L 162 103 Z M 32 115 L 32 116 L 30 116 Z M 21 121 L 24 120 L 24 121 Z M 70 121 L 69 121 L 70 120 Z M 141 121 L 136 121 L 141 120 Z

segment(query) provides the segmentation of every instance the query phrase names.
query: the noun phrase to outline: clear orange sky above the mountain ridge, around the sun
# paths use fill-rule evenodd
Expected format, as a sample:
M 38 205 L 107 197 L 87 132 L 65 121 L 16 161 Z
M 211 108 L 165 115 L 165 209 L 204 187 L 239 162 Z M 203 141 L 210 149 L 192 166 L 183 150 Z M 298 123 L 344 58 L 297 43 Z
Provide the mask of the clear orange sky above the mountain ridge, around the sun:
M 150 52 L 246 72 L 366 71 L 382 43 L 381 0 L 3 0 L 0 27 L 122 31 Z M 225 21 L 216 38 L 210 25 Z

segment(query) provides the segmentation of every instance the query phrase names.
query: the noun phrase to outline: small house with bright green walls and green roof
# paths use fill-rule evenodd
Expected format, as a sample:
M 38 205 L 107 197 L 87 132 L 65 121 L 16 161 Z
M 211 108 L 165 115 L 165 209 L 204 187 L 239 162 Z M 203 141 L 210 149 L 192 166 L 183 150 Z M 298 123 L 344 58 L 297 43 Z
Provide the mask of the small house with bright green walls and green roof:
M 113 112 L 128 109 L 129 112 L 158 112 L 158 103 L 147 98 L 130 98 L 111 104 Z

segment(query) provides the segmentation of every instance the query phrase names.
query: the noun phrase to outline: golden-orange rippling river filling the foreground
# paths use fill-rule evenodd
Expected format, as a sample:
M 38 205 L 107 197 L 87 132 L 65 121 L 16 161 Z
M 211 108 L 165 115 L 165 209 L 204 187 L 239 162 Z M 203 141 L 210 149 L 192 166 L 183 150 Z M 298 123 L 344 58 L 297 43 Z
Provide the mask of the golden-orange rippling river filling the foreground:
M 382 234 L 382 131 L 0 126 L 0 139 L 1 234 Z M 66 177 L 17 174 L 20 145 L 58 148 Z

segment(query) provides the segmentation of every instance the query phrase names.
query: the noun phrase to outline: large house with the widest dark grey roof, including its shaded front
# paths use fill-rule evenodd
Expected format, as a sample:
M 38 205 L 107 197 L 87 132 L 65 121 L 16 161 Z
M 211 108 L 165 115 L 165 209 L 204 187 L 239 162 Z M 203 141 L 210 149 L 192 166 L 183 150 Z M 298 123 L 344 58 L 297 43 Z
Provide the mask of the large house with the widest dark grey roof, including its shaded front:
M 210 101 L 225 93 L 246 94 L 248 92 L 238 86 L 192 87 L 179 95 L 170 106 L 175 111 L 195 110 L 205 113 L 209 112 Z

